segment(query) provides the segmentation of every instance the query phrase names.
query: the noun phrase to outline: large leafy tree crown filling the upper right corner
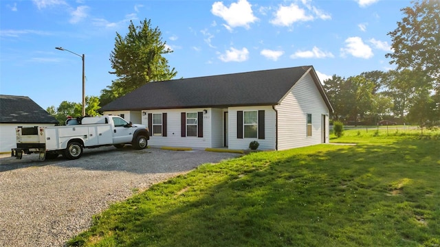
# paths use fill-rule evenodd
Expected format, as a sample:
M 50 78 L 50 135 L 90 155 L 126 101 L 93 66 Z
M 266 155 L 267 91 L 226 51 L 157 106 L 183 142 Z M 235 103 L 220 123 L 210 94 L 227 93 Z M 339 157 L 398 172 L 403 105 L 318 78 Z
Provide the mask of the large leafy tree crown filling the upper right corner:
M 424 71 L 430 82 L 440 87 L 440 1 L 412 1 L 412 8 L 402 8 L 404 18 L 388 32 L 393 53 L 386 54 L 397 70 Z

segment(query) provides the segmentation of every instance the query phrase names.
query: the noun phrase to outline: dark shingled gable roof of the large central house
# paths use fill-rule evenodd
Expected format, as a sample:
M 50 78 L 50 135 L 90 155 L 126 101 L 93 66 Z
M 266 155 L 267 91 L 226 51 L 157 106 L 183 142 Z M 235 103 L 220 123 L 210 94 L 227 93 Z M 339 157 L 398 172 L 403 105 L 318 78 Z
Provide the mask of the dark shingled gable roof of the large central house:
M 332 110 L 311 66 L 150 82 L 100 110 L 272 106 L 281 102 L 309 71 Z

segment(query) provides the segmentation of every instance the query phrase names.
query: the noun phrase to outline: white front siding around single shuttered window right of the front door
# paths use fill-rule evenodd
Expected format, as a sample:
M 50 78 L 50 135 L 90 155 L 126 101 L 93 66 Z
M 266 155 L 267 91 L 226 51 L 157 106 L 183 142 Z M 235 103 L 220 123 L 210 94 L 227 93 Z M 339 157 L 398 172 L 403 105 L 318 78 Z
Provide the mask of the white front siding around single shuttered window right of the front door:
M 238 110 L 265 110 L 265 139 L 254 138 L 236 138 L 236 112 Z M 272 106 L 247 106 L 247 107 L 230 107 L 229 112 L 229 145 L 230 149 L 245 150 L 249 148 L 251 141 L 258 141 L 260 143 L 259 150 L 273 150 L 275 149 L 276 139 L 276 114 Z

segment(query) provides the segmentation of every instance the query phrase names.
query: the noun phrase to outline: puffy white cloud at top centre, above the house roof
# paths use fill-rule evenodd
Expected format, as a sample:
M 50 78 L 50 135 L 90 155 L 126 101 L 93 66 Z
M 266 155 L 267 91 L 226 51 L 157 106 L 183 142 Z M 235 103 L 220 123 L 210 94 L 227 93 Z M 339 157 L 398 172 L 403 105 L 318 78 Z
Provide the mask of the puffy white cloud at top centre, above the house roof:
M 231 3 L 230 7 L 223 5 L 223 2 L 217 1 L 212 4 L 211 12 L 215 16 L 221 17 L 226 21 L 224 26 L 231 30 L 233 27 L 250 28 L 250 23 L 258 20 L 252 13 L 252 5 L 247 0 L 239 0 L 236 3 Z

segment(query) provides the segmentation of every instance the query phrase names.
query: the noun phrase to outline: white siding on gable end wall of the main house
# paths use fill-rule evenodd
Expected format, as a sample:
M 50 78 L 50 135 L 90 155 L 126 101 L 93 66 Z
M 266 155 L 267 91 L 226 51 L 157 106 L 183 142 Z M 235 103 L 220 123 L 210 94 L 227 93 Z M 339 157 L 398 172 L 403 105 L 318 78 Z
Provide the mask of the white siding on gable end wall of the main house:
M 278 110 L 278 150 L 322 143 L 322 115 L 326 115 L 326 142 L 329 140 L 329 109 L 308 73 L 296 82 Z M 311 114 L 312 135 L 307 137 L 307 113 Z

